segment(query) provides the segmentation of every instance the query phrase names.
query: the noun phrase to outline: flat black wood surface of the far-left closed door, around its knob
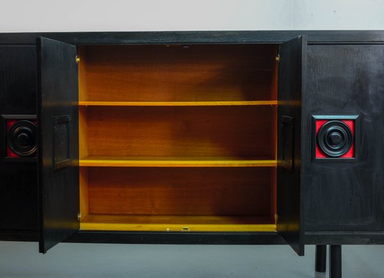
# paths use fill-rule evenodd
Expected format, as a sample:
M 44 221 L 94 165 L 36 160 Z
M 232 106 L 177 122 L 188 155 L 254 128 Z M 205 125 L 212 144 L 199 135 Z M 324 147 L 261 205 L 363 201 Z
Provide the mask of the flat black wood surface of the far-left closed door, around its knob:
M 35 72 L 35 47 L 0 46 L 0 115 L 36 113 Z M 3 153 L 5 126 L 0 126 L 0 136 Z M 0 238 L 38 230 L 36 173 L 36 163 L 0 161 Z

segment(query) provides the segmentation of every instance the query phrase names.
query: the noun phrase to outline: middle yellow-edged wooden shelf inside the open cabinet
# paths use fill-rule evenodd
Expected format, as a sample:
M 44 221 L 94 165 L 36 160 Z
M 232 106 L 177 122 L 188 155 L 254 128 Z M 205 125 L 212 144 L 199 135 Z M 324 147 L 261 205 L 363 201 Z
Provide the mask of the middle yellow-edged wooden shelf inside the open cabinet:
M 227 156 L 88 156 L 79 161 L 88 167 L 275 167 L 275 160 Z

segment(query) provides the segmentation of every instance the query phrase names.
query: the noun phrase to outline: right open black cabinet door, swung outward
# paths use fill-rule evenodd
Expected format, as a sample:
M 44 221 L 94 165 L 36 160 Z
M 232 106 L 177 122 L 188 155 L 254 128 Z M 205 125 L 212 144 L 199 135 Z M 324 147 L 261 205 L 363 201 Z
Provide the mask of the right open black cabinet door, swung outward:
M 307 38 L 280 45 L 278 64 L 278 233 L 304 255 L 304 188 L 301 184 L 301 95 Z

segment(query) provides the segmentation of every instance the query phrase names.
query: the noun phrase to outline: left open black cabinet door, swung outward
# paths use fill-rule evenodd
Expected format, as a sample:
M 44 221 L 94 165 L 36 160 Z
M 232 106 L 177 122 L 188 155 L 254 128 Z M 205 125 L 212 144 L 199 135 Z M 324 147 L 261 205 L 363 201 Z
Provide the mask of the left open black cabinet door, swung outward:
M 39 251 L 79 229 L 77 48 L 38 38 Z

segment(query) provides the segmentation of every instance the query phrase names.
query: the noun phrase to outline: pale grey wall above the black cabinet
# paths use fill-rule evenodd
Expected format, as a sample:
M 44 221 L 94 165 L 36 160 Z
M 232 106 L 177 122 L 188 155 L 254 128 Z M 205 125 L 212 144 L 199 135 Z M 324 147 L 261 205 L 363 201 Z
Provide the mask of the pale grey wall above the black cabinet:
M 382 29 L 383 0 L 0 1 L 0 32 Z

